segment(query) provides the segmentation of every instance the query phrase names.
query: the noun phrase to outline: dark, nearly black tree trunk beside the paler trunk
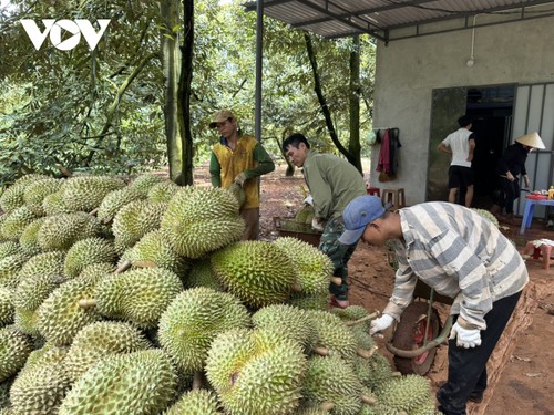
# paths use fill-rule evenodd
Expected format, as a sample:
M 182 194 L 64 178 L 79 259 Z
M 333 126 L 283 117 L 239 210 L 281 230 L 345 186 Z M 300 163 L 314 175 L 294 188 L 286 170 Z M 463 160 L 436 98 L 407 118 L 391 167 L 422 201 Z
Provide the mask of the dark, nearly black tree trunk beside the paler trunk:
M 178 81 L 178 113 L 181 118 L 181 137 L 183 139 L 183 168 L 181 185 L 193 184 L 193 134 L 191 132 L 191 84 L 193 82 L 193 48 L 194 48 L 194 0 L 183 0 L 183 27 L 185 41 L 182 48 L 181 77 Z

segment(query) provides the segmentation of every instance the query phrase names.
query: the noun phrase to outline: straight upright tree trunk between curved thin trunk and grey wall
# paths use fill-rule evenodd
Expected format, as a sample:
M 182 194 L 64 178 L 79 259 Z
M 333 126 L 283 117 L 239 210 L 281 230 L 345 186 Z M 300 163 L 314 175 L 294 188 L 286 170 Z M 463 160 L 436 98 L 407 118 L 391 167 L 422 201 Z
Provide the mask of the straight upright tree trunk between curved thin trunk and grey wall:
M 360 37 L 352 37 L 353 50 L 350 52 L 350 141 L 348 142 L 348 153 L 352 159 L 350 163 L 363 174 L 361 167 L 361 145 L 360 145 Z

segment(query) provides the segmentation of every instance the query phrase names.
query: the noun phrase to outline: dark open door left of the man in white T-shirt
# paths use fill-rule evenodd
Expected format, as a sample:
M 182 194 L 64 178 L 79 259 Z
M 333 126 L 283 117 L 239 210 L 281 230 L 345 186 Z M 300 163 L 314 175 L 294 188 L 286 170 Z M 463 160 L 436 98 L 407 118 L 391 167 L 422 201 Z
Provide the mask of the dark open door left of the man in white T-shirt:
M 437 149 L 447 135 L 459 128 L 458 118 L 465 114 L 466 87 L 433 90 L 431 107 L 431 137 L 429 139 L 429 162 L 425 200 L 448 200 L 448 172 L 450 156 Z

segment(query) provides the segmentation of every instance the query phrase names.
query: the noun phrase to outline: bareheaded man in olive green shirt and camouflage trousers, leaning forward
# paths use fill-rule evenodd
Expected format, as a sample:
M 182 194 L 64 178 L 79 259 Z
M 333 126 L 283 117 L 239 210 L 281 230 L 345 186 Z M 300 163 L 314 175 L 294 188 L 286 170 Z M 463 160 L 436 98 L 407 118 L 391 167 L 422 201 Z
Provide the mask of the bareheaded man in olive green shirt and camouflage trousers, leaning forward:
M 342 210 L 353 198 L 366 195 L 366 184 L 360 172 L 343 158 L 319 154 L 310 149 L 302 134 L 293 134 L 283 142 L 283 151 L 296 167 L 301 167 L 304 178 L 314 199 L 312 227 L 321 230 L 319 250 L 332 261 L 334 276 L 340 277 L 340 286 L 331 283 L 330 304 L 347 308 L 348 267 L 356 243 L 343 246 L 338 241 L 345 230 Z

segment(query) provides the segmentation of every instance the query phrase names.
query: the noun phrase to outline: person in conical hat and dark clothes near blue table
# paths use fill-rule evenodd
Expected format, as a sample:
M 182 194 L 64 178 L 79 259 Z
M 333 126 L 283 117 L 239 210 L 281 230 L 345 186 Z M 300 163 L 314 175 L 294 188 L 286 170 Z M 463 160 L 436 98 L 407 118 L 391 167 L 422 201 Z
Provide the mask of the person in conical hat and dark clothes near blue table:
M 517 225 L 514 219 L 514 201 L 520 197 L 520 175 L 525 187 L 530 187 L 525 160 L 533 148 L 545 148 L 537 133 L 525 134 L 507 146 L 499 159 L 496 174 L 500 181 L 500 199 L 491 208 L 491 214 L 509 224 Z M 503 212 L 505 211 L 505 216 Z

